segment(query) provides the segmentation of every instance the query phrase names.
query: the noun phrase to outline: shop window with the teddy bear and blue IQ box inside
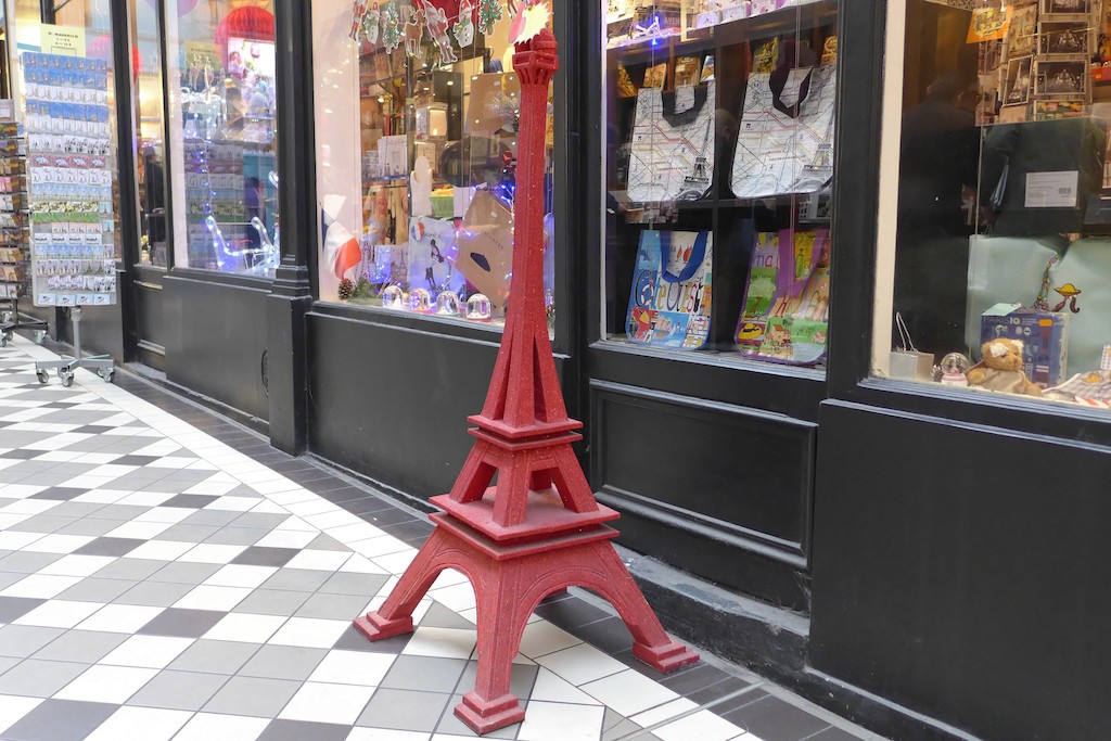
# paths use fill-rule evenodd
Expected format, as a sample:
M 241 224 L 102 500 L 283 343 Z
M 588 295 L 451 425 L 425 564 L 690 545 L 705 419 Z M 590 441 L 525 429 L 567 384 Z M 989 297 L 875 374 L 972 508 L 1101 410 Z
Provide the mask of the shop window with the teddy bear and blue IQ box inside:
M 877 374 L 1111 405 L 1102 6 L 891 3 Z

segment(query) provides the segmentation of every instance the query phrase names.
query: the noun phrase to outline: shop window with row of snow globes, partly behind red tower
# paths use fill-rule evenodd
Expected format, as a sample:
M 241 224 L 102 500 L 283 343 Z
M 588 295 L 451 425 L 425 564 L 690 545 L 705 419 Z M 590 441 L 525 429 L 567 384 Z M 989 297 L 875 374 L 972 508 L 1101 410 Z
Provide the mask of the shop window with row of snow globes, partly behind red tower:
M 511 300 L 520 98 L 510 8 L 312 7 L 321 300 L 500 326 Z M 549 129 L 549 151 L 552 139 Z M 549 177 L 550 321 L 551 187 Z

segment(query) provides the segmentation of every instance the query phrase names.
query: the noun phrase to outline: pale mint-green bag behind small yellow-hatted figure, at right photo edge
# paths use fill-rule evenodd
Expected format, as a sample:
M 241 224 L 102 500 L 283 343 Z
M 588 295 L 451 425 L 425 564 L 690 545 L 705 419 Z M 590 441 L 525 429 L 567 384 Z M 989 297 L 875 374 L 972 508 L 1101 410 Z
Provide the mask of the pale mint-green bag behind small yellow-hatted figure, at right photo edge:
M 1069 314 L 1069 372 L 1099 370 L 1111 344 L 1111 240 L 1081 239 L 1052 258 L 1034 308 Z

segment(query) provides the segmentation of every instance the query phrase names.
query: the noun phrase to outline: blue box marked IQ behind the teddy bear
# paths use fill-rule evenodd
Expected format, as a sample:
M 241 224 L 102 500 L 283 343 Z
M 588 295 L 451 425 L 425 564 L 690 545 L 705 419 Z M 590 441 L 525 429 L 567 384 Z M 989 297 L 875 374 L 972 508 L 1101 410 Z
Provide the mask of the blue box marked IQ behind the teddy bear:
M 1069 314 L 997 303 L 983 312 L 980 341 L 999 337 L 1022 341 L 1023 370 L 1041 388 L 1059 385 L 1068 379 Z

